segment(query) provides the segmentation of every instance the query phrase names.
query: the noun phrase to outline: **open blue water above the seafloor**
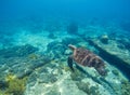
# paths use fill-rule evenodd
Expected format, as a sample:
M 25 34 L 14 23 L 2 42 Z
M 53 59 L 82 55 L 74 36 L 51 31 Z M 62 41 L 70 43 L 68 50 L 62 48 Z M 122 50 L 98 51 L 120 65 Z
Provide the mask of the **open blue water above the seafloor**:
M 25 22 L 26 24 L 35 22 L 37 26 L 41 26 L 40 24 L 47 21 L 51 23 L 75 21 L 82 26 L 88 23 L 105 26 L 109 22 L 118 23 L 118 25 L 127 22 L 128 26 L 126 26 L 129 28 L 129 0 L 2 0 L 0 25 L 4 28 L 11 25 L 12 27 L 24 26 Z

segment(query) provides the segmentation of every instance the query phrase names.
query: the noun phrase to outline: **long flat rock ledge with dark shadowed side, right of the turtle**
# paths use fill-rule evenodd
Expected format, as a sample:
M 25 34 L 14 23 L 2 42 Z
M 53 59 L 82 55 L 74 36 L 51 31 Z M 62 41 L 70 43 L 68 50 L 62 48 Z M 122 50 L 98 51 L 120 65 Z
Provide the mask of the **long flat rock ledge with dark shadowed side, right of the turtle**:
M 116 66 L 130 80 L 130 52 L 117 48 L 117 42 L 109 40 L 108 45 L 102 44 L 96 39 L 88 41 L 91 45 L 99 50 L 99 55 L 112 65 Z

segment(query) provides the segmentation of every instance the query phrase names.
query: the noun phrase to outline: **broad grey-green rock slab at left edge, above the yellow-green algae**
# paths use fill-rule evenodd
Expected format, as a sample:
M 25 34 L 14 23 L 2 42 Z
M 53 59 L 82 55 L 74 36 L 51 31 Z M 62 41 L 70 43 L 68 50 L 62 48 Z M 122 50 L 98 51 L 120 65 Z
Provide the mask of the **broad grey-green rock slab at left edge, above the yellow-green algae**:
M 3 65 L 0 68 L 2 78 L 4 78 L 4 74 L 12 72 L 16 74 L 18 79 L 23 79 L 29 77 L 37 68 L 41 68 L 51 62 L 48 56 L 39 55 L 37 58 L 31 58 L 29 55 L 21 57 L 2 57 L 1 62 L 3 62 Z

